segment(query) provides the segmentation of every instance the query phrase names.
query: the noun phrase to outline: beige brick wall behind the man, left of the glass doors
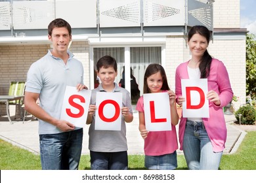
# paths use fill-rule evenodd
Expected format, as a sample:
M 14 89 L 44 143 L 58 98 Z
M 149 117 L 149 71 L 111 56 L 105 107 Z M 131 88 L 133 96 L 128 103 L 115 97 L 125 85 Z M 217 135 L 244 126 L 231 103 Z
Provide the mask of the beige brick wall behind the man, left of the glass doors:
M 0 95 L 8 95 L 11 81 L 25 80 L 30 65 L 45 56 L 50 44 L 0 46 Z M 89 86 L 89 44 L 72 42 L 70 50 L 83 63 L 84 83 Z M 13 114 L 14 108 L 10 108 Z M 0 115 L 5 115 L 5 105 L 0 105 Z

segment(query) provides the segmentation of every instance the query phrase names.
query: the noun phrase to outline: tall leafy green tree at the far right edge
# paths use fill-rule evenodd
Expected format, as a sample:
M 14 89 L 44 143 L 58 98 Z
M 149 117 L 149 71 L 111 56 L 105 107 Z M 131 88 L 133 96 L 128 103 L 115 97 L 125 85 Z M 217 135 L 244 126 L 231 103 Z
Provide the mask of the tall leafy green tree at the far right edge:
M 255 35 L 246 35 L 246 95 L 256 98 L 256 40 Z

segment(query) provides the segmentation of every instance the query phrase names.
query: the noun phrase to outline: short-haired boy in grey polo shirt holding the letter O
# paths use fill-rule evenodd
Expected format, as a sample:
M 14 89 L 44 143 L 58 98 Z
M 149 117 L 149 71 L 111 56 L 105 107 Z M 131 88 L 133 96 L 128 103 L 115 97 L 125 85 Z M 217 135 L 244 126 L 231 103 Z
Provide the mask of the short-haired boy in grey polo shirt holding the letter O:
M 130 94 L 114 82 L 117 76 L 116 59 L 103 56 L 96 63 L 97 76 L 100 78 L 98 88 L 92 90 L 91 105 L 87 122 L 89 127 L 89 150 L 92 170 L 127 170 L 127 140 L 125 122 L 133 121 Z M 121 92 L 123 94 L 121 107 L 121 131 L 95 130 L 96 92 Z

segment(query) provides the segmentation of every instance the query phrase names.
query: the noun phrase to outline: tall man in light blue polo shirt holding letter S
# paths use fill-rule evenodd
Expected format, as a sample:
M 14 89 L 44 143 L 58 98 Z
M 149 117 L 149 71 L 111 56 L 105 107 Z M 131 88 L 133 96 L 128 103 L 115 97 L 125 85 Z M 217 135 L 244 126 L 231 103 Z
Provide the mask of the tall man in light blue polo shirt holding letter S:
M 66 86 L 87 89 L 83 84 L 83 65 L 68 50 L 72 40 L 68 22 L 53 20 L 48 34 L 53 49 L 28 71 L 25 110 L 39 119 L 42 169 L 78 169 L 83 129 L 60 119 L 60 113 Z

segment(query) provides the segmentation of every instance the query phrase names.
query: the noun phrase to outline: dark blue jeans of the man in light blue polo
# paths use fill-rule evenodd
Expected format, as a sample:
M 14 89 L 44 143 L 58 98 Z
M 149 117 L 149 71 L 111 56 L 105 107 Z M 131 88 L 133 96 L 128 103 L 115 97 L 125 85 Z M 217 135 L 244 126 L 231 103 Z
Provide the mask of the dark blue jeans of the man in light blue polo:
M 83 129 L 39 135 L 43 170 L 77 170 L 82 150 Z

